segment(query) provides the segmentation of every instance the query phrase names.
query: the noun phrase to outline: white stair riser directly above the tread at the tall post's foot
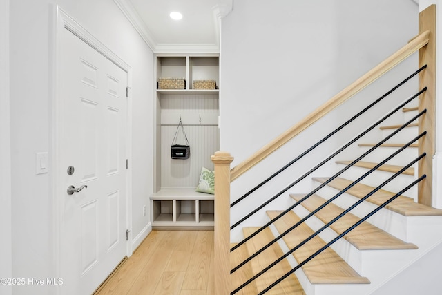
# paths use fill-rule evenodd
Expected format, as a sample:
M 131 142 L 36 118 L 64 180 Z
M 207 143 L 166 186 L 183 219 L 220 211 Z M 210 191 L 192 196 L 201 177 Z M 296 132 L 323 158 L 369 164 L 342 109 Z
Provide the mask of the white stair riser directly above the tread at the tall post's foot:
M 341 174 L 340 177 L 348 180 L 356 180 L 359 177 L 361 177 L 361 175 L 364 175 L 368 171 L 369 169 L 353 166 L 352 168 L 348 169 L 343 174 Z M 394 173 L 377 170 L 367 175 L 360 183 L 367 184 L 370 187 L 378 187 L 378 185 L 382 184 L 385 180 L 392 177 L 392 175 L 394 175 Z M 415 179 L 414 175 L 412 176 L 412 175 L 401 174 L 398 175 L 389 183 L 385 184 L 385 186 L 382 189 L 385 189 L 387 191 L 401 191 L 402 189 L 407 187 L 407 185 L 412 183 L 414 179 Z M 417 187 L 416 186 L 412 187 L 411 189 L 406 191 L 403 195 L 408 196 L 410 198 L 414 198 L 414 200 L 417 200 Z

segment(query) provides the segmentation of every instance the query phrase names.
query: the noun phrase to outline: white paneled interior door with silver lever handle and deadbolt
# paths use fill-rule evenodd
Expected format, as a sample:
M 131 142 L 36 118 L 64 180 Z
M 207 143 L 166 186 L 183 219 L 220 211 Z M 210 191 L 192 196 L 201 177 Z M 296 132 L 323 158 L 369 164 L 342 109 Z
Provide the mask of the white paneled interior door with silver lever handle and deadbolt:
M 61 290 L 91 294 L 126 256 L 128 79 L 72 32 L 60 44 Z

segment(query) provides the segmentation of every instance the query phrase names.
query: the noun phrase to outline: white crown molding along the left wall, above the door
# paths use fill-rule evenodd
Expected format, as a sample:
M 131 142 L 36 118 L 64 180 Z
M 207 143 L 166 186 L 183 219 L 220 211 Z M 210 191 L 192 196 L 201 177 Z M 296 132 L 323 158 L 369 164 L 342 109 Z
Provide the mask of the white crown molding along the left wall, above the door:
M 128 19 L 133 28 L 140 34 L 144 42 L 151 48 L 155 53 L 155 48 L 157 47 L 157 42 L 152 36 L 152 33 L 146 27 L 144 21 L 140 15 L 138 15 L 137 10 L 133 7 L 132 3 L 127 0 L 113 0 L 117 4 L 119 10 L 123 12 L 123 15 Z

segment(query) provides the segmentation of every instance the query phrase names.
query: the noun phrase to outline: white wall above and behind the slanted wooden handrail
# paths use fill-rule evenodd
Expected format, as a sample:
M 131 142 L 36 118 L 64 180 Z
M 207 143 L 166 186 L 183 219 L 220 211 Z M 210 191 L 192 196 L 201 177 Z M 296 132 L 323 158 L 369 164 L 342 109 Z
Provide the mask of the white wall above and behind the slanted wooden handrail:
M 405 45 L 417 33 L 417 14 L 416 4 L 403 0 L 235 1 L 233 11 L 222 19 L 220 59 L 220 149 L 235 158 L 232 166 Z M 413 63 L 409 61 L 405 68 Z M 405 78 L 403 73 L 399 76 Z M 368 88 L 356 102 L 327 115 L 317 127 L 302 133 L 298 140 L 241 176 L 232 183 L 232 199 L 318 141 L 325 131 L 332 130 L 332 125 L 356 113 L 351 110 L 367 105 L 367 96 L 374 100 L 391 86 L 390 81 L 381 82 L 380 90 Z M 388 107 L 398 104 L 397 99 L 388 102 Z M 385 106 L 377 108 L 376 115 L 363 117 L 349 132 L 328 142 L 311 158 L 330 153 L 349 135 L 361 131 L 367 118 L 378 117 L 386 110 Z M 307 167 L 311 167 L 311 162 L 301 161 L 296 169 L 263 188 L 263 192 L 254 193 L 253 201 L 242 202 L 239 209 L 234 207 L 233 222 L 244 215 L 244 208 L 256 207 L 257 202 L 285 187 Z M 325 166 L 319 173 L 332 169 Z M 302 190 L 310 187 L 309 179 L 300 184 Z M 261 213 L 256 220 L 263 218 Z M 252 218 L 244 225 L 256 225 L 256 220 Z M 236 236 L 238 232 L 233 231 L 233 239 Z

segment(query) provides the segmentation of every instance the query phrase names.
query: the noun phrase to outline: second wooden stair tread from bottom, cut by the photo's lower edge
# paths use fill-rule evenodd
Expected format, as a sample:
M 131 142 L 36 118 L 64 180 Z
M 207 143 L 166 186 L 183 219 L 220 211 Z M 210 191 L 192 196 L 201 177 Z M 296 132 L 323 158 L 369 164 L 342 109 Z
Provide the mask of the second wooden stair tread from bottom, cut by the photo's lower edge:
M 244 232 L 244 236 L 250 236 L 258 230 L 259 227 L 244 227 L 242 231 Z M 249 254 L 256 253 L 259 249 L 267 245 L 271 240 L 273 240 L 274 236 L 271 233 L 269 228 L 261 231 L 258 235 L 254 236 L 246 242 L 247 250 Z M 244 246 L 242 246 L 244 247 Z M 236 249 L 235 251 L 237 251 Z M 273 263 L 276 259 L 280 258 L 283 255 L 282 250 L 280 249 L 278 243 L 271 245 L 269 248 L 265 249 L 261 254 L 253 258 L 249 263 L 253 272 L 253 275 L 258 274 L 262 269 Z M 238 265 L 238 264 L 237 264 Z M 244 265 L 245 267 L 246 265 Z M 287 274 L 291 270 L 291 266 L 289 262 L 284 259 L 280 261 L 277 265 L 269 269 L 268 272 L 262 274 L 254 280 L 256 283 L 256 289 L 258 292 L 261 292 L 263 289 L 267 288 L 273 282 L 278 280 L 281 276 Z M 235 273 L 233 273 L 234 275 Z M 256 293 L 258 294 L 258 293 Z M 273 287 L 266 294 L 296 294 L 296 295 L 305 295 L 304 290 L 302 289 L 298 278 L 295 274 L 291 274 L 281 283 Z

